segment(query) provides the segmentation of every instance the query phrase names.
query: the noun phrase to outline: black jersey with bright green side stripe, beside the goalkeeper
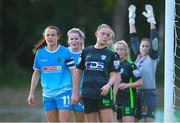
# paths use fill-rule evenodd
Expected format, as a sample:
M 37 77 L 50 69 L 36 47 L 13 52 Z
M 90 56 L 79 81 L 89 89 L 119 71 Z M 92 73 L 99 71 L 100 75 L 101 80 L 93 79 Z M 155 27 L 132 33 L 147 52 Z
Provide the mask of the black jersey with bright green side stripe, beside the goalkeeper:
M 125 60 L 120 64 L 120 73 L 122 83 L 133 83 L 141 78 L 136 65 L 130 60 Z M 136 88 L 129 87 L 124 90 L 118 89 L 116 103 L 120 105 L 129 104 L 130 107 L 133 108 L 135 97 Z

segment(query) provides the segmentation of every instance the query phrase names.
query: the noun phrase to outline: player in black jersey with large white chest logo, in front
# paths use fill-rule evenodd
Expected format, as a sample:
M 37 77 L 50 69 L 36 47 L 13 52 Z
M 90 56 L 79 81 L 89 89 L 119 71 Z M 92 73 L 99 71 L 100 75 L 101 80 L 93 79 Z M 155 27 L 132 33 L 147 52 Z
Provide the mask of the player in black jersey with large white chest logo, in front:
M 88 122 L 111 122 L 112 84 L 119 78 L 120 61 L 118 54 L 106 47 L 112 37 L 112 29 L 101 24 L 95 33 L 97 42 L 94 46 L 83 49 L 77 66 L 80 79 L 84 71 L 82 100 Z

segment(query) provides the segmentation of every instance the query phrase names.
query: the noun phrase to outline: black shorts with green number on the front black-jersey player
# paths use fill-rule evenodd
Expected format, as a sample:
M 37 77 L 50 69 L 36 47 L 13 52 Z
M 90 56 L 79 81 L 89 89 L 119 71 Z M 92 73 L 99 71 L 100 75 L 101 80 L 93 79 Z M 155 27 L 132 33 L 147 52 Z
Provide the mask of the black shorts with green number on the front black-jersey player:
M 112 109 L 112 100 L 110 98 L 82 98 L 84 103 L 84 112 L 92 113 L 99 112 L 102 109 Z

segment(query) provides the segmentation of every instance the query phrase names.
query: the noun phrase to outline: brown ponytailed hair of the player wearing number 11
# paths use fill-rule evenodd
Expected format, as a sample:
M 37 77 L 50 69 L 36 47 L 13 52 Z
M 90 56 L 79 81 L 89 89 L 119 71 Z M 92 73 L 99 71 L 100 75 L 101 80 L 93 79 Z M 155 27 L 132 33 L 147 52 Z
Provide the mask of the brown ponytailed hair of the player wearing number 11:
M 44 29 L 44 32 L 46 31 L 46 29 L 54 29 L 57 32 L 57 36 L 60 37 L 60 31 L 59 28 L 56 26 L 48 26 Z M 32 50 L 33 54 L 36 53 L 37 49 L 42 46 L 42 44 L 45 42 L 45 38 L 44 38 L 44 32 L 43 32 L 43 38 L 41 38 L 35 45 L 34 48 Z

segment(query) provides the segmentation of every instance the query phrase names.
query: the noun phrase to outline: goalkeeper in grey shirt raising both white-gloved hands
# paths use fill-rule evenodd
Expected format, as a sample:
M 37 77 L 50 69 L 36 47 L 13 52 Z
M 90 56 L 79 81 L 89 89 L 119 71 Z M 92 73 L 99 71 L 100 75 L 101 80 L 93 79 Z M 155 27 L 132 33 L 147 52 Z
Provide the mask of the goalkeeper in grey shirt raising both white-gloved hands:
M 157 102 L 156 94 L 156 68 L 158 64 L 158 38 L 156 30 L 156 21 L 154 18 L 153 7 L 151 5 L 145 5 L 146 12 L 143 15 L 146 17 L 147 22 L 150 24 L 150 39 L 144 38 L 141 40 L 140 46 L 136 36 L 135 27 L 135 11 L 136 7 L 130 5 L 129 10 L 129 26 L 131 45 L 134 53 L 137 55 L 136 65 L 140 71 L 143 86 L 138 89 L 138 95 L 140 97 L 140 117 L 144 118 L 144 121 L 152 122 L 154 117 L 155 106 Z

